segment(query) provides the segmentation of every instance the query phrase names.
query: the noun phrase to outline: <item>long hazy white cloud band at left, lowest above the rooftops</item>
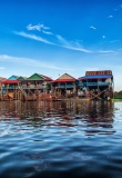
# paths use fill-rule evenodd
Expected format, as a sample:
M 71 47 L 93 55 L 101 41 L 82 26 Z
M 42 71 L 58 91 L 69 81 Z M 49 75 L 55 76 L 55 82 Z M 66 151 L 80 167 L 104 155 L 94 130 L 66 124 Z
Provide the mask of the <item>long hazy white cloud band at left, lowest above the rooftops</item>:
M 13 62 L 13 63 L 19 63 L 22 66 L 35 67 L 35 68 L 45 68 L 45 69 L 54 69 L 54 70 L 73 70 L 70 68 L 58 67 L 50 62 L 43 62 L 43 60 L 35 60 L 35 59 L 30 59 L 30 58 L 24 58 L 24 57 L 22 58 L 13 57 L 13 56 L 8 56 L 8 55 L 0 55 L 0 61 Z

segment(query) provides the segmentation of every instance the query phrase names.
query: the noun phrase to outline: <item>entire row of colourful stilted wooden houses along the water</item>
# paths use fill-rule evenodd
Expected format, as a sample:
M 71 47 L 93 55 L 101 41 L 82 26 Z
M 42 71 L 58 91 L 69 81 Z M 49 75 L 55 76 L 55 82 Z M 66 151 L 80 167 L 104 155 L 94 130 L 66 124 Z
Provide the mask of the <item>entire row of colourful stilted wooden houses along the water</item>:
M 1 82 L 1 100 L 57 100 L 62 98 L 106 99 L 113 97 L 114 81 L 111 70 L 87 71 L 75 79 L 63 73 L 55 80 L 33 73 L 30 77 L 11 76 Z

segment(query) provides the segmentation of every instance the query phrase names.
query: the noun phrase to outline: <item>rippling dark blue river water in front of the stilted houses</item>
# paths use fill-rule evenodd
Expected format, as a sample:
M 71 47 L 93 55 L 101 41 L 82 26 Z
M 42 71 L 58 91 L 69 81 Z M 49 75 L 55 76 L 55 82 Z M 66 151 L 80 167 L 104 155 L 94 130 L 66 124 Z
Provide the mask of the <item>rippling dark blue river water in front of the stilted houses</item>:
M 122 102 L 0 102 L 0 178 L 122 178 Z

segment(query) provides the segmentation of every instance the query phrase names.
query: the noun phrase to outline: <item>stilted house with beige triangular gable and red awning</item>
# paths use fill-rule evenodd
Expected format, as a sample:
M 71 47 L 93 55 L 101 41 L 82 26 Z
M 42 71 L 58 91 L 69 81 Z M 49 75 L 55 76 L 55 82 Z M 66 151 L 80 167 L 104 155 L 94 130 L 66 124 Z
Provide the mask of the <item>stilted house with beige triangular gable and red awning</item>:
M 77 79 L 68 73 L 62 75 L 51 83 L 51 91 L 54 97 L 69 98 L 75 96 L 75 81 Z

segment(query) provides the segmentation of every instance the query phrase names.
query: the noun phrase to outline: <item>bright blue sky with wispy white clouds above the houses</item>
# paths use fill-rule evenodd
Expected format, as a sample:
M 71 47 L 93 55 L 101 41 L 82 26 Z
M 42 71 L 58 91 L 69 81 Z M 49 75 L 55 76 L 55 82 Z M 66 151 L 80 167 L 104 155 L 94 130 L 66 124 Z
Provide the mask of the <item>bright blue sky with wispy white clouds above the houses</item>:
M 0 77 L 87 70 L 122 90 L 122 0 L 0 0 Z

